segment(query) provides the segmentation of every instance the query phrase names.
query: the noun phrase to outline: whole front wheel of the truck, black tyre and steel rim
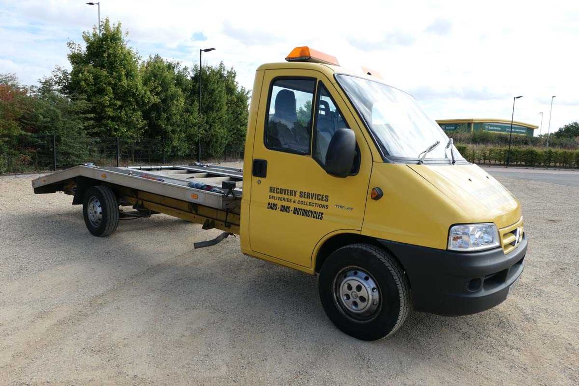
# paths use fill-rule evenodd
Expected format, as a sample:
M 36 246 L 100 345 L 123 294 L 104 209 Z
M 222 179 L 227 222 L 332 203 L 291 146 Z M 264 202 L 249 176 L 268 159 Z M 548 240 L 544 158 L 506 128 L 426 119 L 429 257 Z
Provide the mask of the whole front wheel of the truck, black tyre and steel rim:
M 369 244 L 347 245 L 329 255 L 318 289 L 332 323 L 361 340 L 394 333 L 411 307 L 404 270 L 389 253 Z

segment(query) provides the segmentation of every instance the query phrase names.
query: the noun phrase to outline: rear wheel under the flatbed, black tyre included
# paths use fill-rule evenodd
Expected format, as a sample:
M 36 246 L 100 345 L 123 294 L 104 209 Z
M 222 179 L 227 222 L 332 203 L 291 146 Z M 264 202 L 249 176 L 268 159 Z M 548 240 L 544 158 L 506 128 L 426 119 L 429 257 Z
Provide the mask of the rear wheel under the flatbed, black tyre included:
M 108 186 L 95 185 L 86 191 L 82 213 L 94 236 L 109 236 L 119 225 L 119 201 Z

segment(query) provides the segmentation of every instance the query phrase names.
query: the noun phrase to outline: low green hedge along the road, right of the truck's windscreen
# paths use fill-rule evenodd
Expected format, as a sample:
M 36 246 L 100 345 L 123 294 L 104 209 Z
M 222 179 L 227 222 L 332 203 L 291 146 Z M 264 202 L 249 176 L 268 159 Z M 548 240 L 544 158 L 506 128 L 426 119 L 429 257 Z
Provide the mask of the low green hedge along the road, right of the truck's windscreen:
M 464 158 L 473 163 L 487 165 L 507 163 L 508 147 L 459 144 L 456 148 Z M 511 146 L 510 164 L 529 167 L 579 168 L 579 150 Z

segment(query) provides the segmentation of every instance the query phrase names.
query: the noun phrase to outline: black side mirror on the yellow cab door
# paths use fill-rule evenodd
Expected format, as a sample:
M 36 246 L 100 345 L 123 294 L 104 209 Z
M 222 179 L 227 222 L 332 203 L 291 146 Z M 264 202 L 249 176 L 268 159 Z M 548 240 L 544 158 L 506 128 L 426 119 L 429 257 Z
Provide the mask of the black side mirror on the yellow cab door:
M 325 171 L 335 177 L 348 177 L 356 155 L 356 135 L 350 128 L 336 130 L 329 141 Z

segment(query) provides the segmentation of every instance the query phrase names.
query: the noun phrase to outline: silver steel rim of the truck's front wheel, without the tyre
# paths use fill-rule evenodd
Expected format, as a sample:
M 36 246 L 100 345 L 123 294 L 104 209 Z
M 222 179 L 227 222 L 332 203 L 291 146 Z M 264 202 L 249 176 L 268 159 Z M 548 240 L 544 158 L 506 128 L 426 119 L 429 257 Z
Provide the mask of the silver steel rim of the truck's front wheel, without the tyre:
M 373 276 L 357 266 L 345 267 L 334 278 L 334 302 L 348 317 L 364 322 L 378 315 L 381 294 Z

